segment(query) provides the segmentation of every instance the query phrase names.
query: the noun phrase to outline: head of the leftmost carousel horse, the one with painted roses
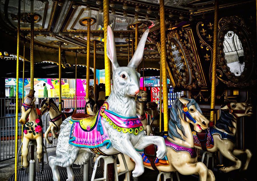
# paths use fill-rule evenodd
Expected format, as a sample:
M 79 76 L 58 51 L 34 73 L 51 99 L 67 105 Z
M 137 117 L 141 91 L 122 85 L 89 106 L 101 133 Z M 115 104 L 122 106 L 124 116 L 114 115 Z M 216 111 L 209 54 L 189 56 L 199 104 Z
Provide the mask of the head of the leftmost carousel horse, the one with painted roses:
M 33 104 L 36 101 L 34 93 L 35 91 L 30 90 L 29 94 L 24 97 L 24 102 L 21 106 L 21 118 L 19 120 L 19 123 L 21 124 L 26 124 L 27 118 L 29 117 Z

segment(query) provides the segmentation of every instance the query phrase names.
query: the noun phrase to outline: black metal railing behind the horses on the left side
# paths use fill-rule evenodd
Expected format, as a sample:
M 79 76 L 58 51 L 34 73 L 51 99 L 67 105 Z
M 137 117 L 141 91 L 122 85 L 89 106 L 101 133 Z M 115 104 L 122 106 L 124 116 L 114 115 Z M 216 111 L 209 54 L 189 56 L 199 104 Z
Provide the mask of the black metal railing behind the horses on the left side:
M 35 105 L 37 108 L 40 108 L 40 104 L 43 99 L 43 97 L 36 97 Z M 56 102 L 57 105 L 59 105 L 59 98 L 53 97 L 52 99 Z M 62 100 L 63 109 L 75 107 L 74 97 L 63 97 Z M 19 98 L 18 104 L 18 119 L 20 119 L 22 105 L 21 98 Z M 15 106 L 15 97 L 0 98 L 0 162 L 3 160 L 15 158 Z M 84 96 L 77 96 L 77 112 L 84 113 L 84 106 Z M 43 121 L 43 133 L 45 133 L 45 130 L 49 126 L 50 115 L 47 112 L 42 115 L 41 118 Z M 21 124 L 18 123 L 18 147 L 22 142 L 21 135 L 23 130 L 21 128 Z M 55 147 L 58 139 L 53 138 L 52 134 L 49 134 L 49 140 L 53 140 L 53 144 L 47 144 L 45 138 L 43 138 L 43 142 L 46 148 Z

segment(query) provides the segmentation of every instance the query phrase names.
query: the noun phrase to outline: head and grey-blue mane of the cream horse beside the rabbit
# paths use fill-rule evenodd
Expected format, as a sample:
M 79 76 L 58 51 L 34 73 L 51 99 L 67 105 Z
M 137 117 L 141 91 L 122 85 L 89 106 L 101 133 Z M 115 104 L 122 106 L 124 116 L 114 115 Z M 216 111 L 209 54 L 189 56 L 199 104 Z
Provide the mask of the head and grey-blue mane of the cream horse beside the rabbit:
M 209 124 L 209 120 L 202 115 L 202 110 L 196 101 L 188 98 L 178 98 L 172 104 L 169 121 L 169 136 L 171 138 L 176 137 L 183 140 L 177 130 L 178 128 L 185 135 L 181 121 L 192 123 L 197 132 L 207 129 Z

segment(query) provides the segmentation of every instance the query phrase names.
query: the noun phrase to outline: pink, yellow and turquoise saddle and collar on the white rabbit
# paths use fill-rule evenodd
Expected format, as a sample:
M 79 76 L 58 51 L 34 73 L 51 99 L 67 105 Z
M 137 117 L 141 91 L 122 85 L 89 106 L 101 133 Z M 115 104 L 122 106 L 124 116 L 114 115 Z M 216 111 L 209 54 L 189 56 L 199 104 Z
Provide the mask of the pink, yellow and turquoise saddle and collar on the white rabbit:
M 111 141 L 105 127 L 102 126 L 103 118 L 119 132 L 122 130 L 123 133 L 137 135 L 143 131 L 143 125 L 137 116 L 125 117 L 108 109 L 109 105 L 105 102 L 95 116 L 73 115 L 70 120 L 72 126 L 69 144 L 85 148 L 110 148 Z

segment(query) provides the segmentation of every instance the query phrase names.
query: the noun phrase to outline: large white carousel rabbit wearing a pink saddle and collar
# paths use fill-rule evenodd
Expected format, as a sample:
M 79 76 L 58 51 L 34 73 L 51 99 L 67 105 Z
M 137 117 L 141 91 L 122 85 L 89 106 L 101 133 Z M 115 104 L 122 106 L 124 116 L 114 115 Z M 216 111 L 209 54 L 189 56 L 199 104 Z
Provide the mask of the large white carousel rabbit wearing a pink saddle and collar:
M 155 144 L 156 156 L 164 158 L 167 152 L 164 138 L 146 136 L 136 116 L 135 96 L 139 93 L 140 64 L 149 29 L 142 35 L 134 56 L 127 67 L 119 67 L 113 31 L 107 27 L 107 55 L 112 62 L 113 89 L 95 116 L 75 114 L 61 124 L 56 157 L 49 156 L 53 180 L 60 180 L 57 166 L 66 167 L 68 179 L 74 180 L 72 164 L 85 164 L 92 153 L 114 155 L 119 152 L 135 161 L 134 177 L 144 172 L 141 155 L 135 150 Z

